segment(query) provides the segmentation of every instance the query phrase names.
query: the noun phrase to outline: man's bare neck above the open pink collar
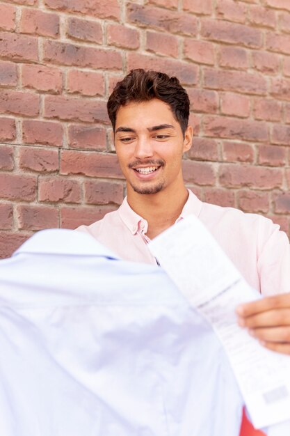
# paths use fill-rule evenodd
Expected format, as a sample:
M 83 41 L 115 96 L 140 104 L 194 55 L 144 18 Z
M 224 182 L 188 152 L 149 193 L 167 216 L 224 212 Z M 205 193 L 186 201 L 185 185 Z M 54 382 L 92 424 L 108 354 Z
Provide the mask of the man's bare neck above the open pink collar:
M 146 235 L 153 239 L 166 228 L 175 224 L 188 198 L 188 191 L 183 185 L 177 192 L 164 189 L 157 194 L 138 194 L 128 190 L 128 203 L 140 217 L 146 219 Z

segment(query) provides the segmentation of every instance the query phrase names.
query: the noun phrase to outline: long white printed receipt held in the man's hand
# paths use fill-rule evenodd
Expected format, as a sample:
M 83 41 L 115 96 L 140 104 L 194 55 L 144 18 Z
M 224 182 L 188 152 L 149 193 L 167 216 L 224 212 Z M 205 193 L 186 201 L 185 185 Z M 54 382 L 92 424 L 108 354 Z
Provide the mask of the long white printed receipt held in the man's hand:
M 149 248 L 220 338 L 255 428 L 290 420 L 290 357 L 266 350 L 237 325 L 236 306 L 261 296 L 207 228 L 198 218 L 187 217 L 152 240 Z

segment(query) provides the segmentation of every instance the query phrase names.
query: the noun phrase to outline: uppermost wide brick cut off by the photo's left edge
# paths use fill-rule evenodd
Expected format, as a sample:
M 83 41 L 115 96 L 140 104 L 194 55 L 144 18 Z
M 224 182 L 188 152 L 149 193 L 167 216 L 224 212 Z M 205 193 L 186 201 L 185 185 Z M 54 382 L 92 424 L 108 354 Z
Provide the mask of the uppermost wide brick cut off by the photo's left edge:
M 38 40 L 33 36 L 0 32 L 0 56 L 10 61 L 38 61 Z

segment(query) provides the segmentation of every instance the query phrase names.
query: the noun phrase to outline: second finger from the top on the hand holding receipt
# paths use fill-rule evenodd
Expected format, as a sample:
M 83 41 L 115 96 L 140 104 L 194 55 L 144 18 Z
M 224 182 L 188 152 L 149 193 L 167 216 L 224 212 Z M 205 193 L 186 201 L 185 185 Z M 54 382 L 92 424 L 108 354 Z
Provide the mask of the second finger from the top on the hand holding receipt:
M 279 327 L 280 325 L 290 325 L 290 309 L 269 310 L 248 316 L 248 318 L 238 318 L 241 327 Z

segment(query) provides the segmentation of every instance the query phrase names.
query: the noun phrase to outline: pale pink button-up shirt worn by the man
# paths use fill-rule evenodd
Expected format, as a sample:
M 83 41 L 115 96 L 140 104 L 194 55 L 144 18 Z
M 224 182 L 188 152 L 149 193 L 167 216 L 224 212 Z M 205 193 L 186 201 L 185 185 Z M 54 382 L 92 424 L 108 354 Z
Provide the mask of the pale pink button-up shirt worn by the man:
M 189 191 L 177 221 L 191 214 L 214 235 L 251 286 L 263 295 L 290 292 L 290 244 L 277 224 L 260 215 L 202 203 Z M 124 198 L 118 210 L 77 230 L 90 233 L 124 259 L 156 263 L 147 247 L 147 228 L 147 221 Z

